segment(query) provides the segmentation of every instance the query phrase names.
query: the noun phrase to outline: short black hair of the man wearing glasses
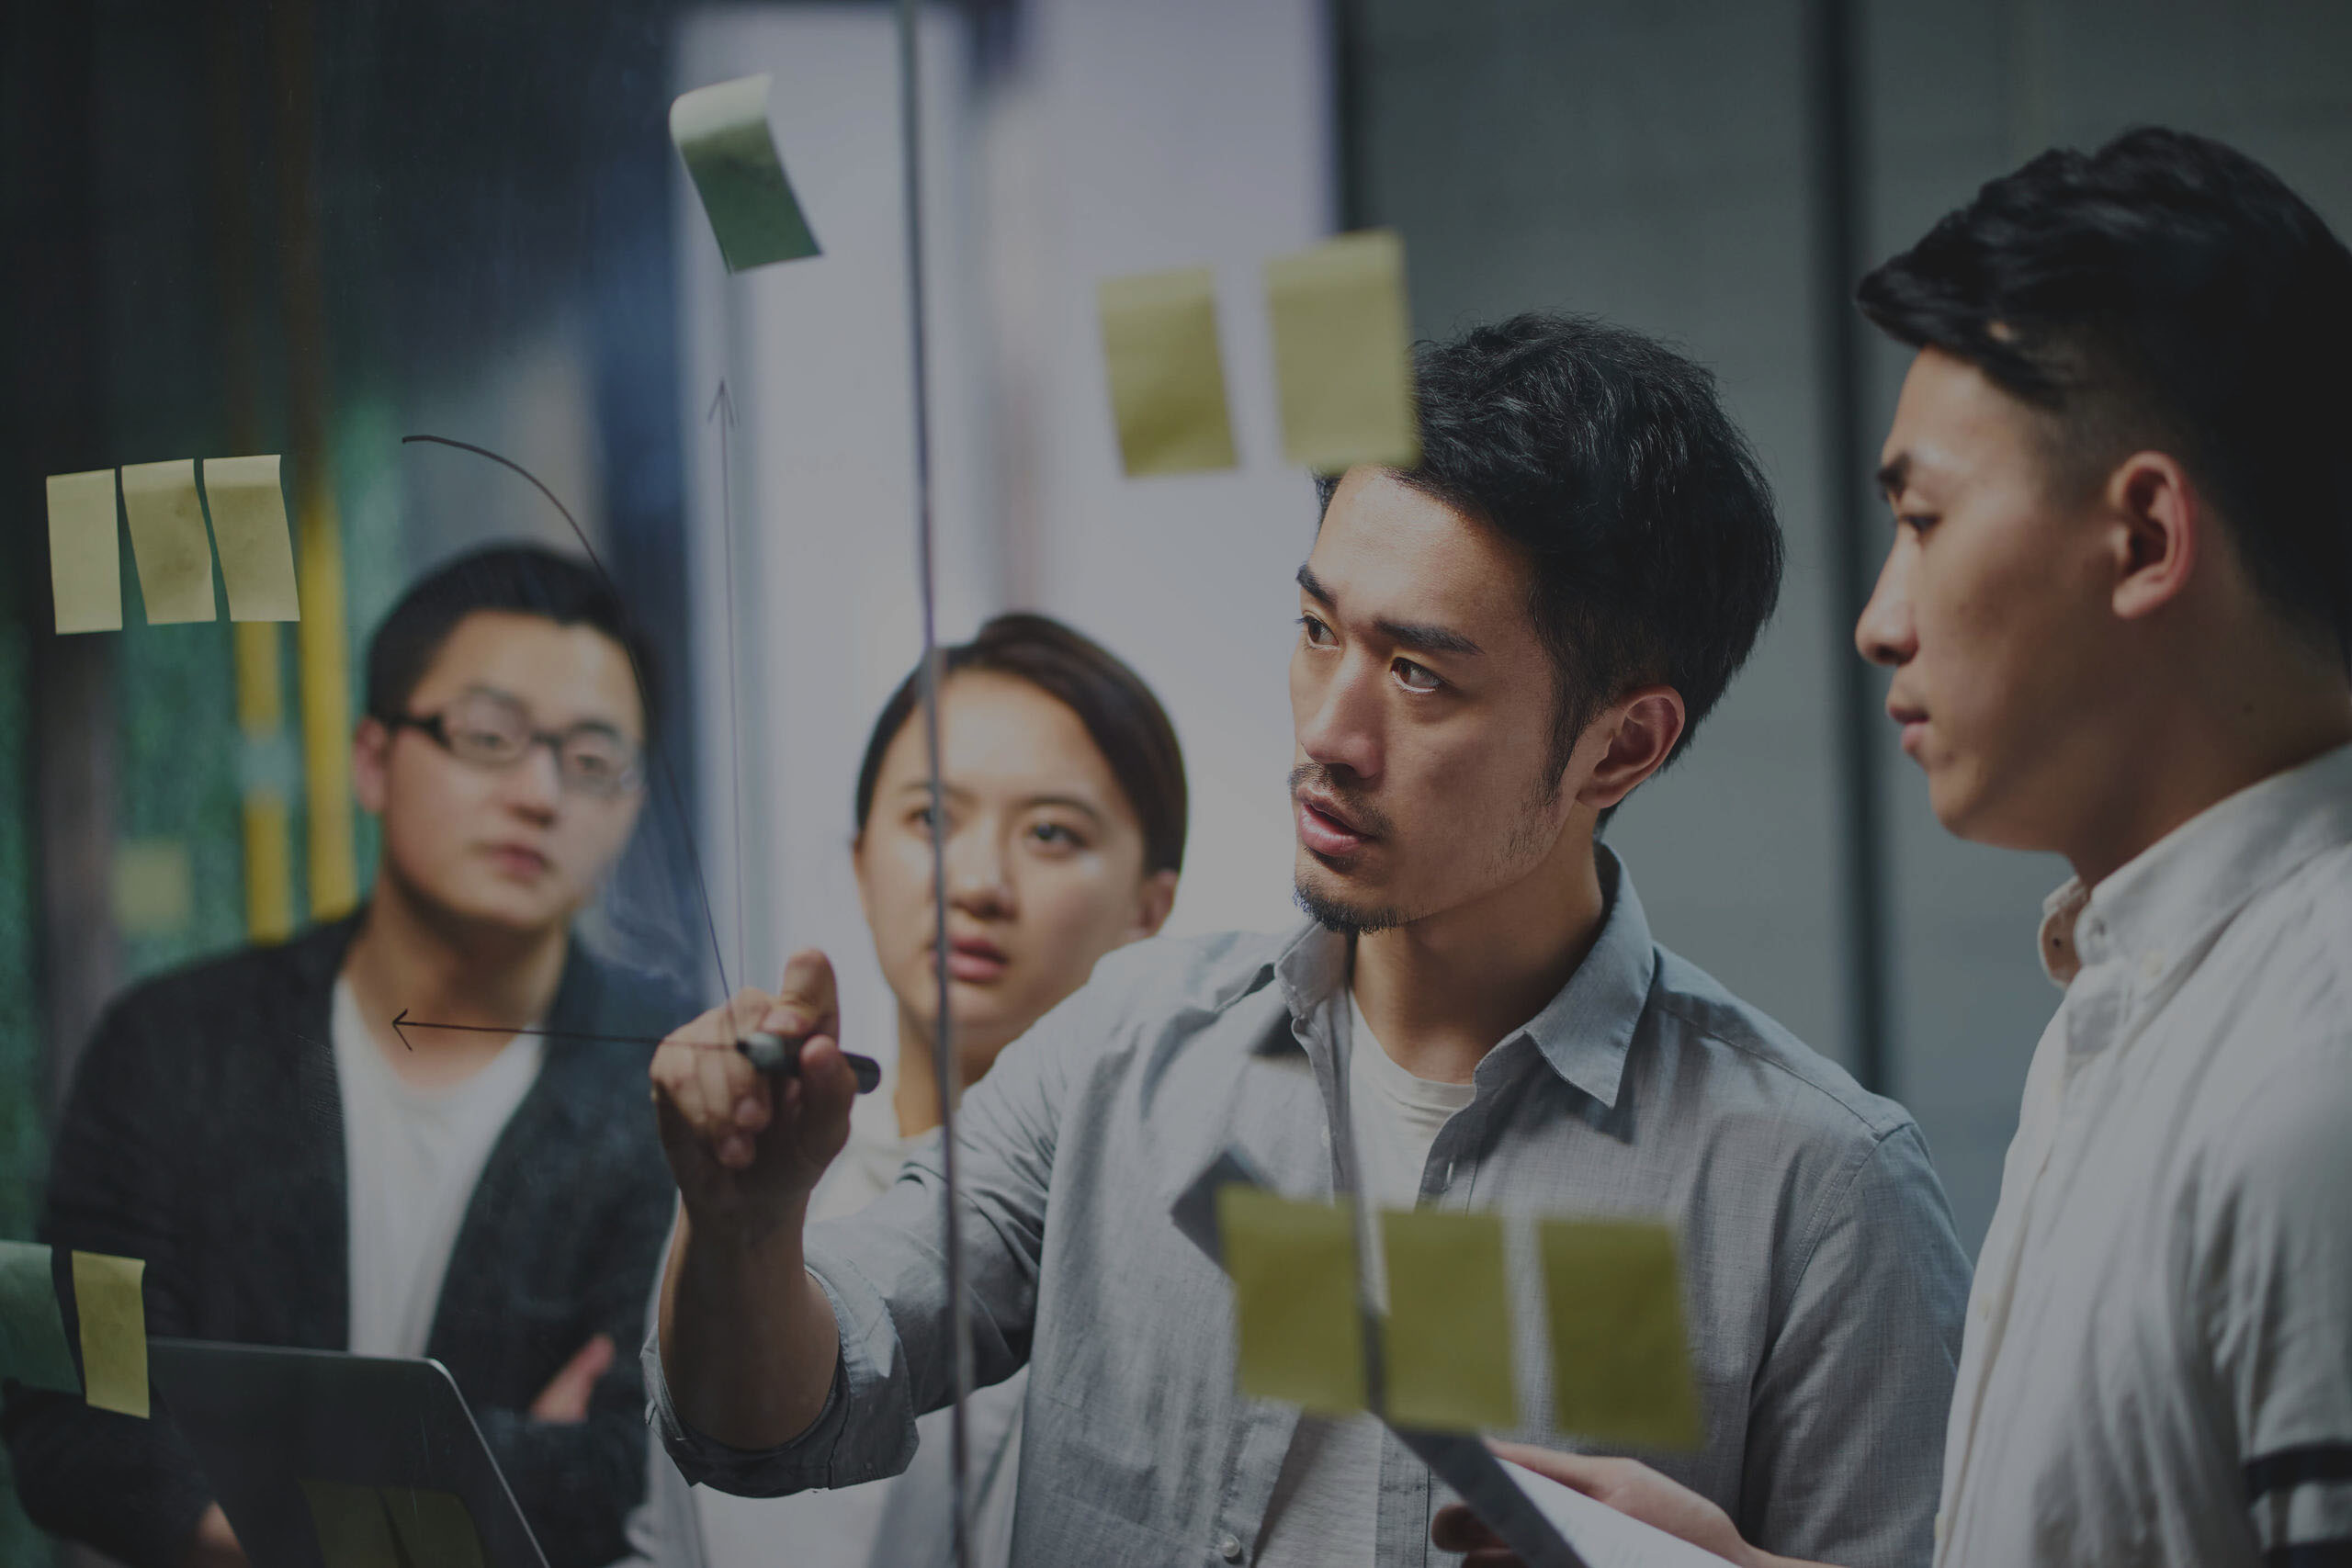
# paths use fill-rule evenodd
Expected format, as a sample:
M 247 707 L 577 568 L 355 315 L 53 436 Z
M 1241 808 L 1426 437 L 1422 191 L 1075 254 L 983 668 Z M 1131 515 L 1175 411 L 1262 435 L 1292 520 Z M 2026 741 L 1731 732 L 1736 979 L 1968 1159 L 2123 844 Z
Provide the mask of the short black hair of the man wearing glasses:
M 659 682 L 652 642 L 595 567 L 541 545 L 492 545 L 461 555 L 400 595 L 367 642 L 367 715 L 379 724 L 405 715 L 449 632 L 477 611 L 539 616 L 609 637 L 628 656 L 644 710 L 644 741 L 654 741 Z

